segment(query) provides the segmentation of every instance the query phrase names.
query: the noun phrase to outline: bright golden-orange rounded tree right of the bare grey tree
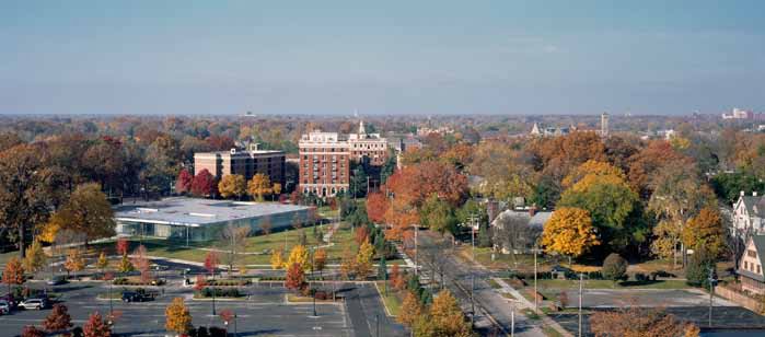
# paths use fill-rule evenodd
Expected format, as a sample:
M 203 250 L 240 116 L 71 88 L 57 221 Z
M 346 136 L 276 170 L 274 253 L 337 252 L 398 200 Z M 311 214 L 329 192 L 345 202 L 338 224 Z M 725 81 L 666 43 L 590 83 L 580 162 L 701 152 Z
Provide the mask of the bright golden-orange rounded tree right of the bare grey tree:
M 545 251 L 568 256 L 569 259 L 581 256 L 599 244 L 590 212 L 579 208 L 558 208 L 542 232 Z

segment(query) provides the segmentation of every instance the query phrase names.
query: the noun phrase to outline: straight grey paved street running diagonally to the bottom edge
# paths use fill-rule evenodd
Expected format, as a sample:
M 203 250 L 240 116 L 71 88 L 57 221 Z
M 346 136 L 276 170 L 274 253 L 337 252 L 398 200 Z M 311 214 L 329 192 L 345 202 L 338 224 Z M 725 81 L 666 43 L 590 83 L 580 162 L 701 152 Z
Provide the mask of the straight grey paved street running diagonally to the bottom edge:
M 422 232 L 420 232 L 422 233 Z M 420 235 L 419 245 L 433 245 L 437 241 L 441 240 L 432 233 Z M 450 291 L 460 300 L 463 311 L 470 313 L 472 310 L 470 290 L 471 290 L 471 274 L 475 274 L 475 291 L 474 300 L 476 303 L 476 317 L 475 325 L 482 335 L 494 335 L 497 333 L 497 327 L 486 314 L 490 313 L 494 321 L 497 322 L 501 329 L 507 334 L 510 333 L 512 325 L 511 312 L 513 311 L 512 305 L 507 299 L 501 297 L 499 293 L 494 291 L 494 289 L 486 282 L 492 275 L 483 268 L 474 267 L 470 264 L 457 259 L 454 254 L 444 254 L 441 263 L 444 266 L 441 268 L 444 271 L 444 282 L 449 287 Z M 432 270 L 431 267 L 424 262 L 420 262 L 424 268 L 422 274 L 429 275 Z M 440 277 L 437 275 L 438 280 Z M 515 335 L 517 336 L 544 336 L 544 334 L 525 316 L 515 312 L 514 317 Z M 501 335 L 501 330 L 499 332 Z

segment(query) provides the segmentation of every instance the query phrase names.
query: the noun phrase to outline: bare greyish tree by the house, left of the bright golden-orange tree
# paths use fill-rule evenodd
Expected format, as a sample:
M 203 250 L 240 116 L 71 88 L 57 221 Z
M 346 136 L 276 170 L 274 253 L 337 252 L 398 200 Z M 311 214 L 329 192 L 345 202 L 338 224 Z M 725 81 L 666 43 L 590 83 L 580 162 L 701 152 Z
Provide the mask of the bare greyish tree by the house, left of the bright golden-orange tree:
M 500 249 L 510 251 L 515 264 L 515 254 L 532 249 L 542 235 L 542 228 L 530 224 L 530 220 L 525 213 L 503 214 L 495 220 L 494 242 Z

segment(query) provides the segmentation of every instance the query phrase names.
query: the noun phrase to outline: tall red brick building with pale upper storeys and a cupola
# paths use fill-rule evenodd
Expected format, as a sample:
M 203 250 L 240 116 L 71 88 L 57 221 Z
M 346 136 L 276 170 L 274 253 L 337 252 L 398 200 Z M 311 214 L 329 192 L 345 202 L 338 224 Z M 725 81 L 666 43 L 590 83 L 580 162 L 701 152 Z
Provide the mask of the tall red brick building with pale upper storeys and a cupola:
M 387 159 L 387 140 L 378 133 L 367 133 L 363 121 L 357 133 L 312 131 L 303 135 L 300 148 L 299 189 L 332 197 L 350 188 L 350 161 L 381 166 Z

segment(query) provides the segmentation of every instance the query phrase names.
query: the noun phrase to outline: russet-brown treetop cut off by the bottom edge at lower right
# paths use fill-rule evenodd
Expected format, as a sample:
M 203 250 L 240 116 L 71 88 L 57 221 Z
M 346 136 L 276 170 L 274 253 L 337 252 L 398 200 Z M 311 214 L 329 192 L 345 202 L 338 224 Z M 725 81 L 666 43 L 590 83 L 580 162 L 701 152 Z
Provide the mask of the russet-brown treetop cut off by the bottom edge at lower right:
M 590 329 L 598 337 L 698 336 L 693 323 L 679 321 L 661 309 L 639 305 L 595 311 L 590 316 Z

